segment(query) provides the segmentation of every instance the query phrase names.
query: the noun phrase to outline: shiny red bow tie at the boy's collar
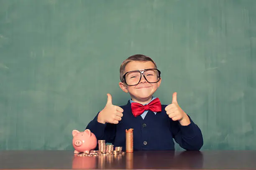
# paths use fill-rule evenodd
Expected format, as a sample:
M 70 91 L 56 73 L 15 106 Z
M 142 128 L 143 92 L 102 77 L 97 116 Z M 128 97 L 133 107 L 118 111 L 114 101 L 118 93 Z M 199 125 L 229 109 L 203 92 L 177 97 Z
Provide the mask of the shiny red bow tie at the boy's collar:
M 131 109 L 134 117 L 137 117 L 138 115 L 141 115 L 145 110 L 151 110 L 152 112 L 161 112 L 162 106 L 159 98 L 155 98 L 147 105 L 141 105 L 140 103 L 132 102 Z

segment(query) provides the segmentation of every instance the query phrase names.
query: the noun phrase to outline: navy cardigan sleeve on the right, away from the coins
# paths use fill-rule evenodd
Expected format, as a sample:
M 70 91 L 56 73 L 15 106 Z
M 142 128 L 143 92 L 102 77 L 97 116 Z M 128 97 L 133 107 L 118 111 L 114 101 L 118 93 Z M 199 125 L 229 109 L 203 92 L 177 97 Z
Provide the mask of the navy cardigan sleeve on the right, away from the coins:
M 189 120 L 189 125 L 181 125 L 179 121 L 170 119 L 174 140 L 185 150 L 200 150 L 203 145 L 202 132 L 190 117 Z

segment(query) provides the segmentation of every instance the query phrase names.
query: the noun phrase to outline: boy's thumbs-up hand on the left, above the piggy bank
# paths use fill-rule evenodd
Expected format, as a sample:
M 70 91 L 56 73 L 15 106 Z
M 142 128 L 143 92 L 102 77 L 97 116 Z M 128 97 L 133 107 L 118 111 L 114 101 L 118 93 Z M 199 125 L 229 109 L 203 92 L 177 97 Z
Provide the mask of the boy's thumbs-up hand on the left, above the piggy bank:
M 108 101 L 103 110 L 100 111 L 97 121 L 100 123 L 113 123 L 118 124 L 118 122 L 123 117 L 123 109 L 119 106 L 112 104 L 112 96 L 108 95 Z

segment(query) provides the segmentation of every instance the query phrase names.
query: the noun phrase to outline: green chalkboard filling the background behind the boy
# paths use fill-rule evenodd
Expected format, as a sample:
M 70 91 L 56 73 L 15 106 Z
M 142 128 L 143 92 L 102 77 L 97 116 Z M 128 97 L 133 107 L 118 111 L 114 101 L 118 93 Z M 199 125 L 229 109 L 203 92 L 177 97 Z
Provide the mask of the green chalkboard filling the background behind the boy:
M 155 96 L 177 91 L 202 150 L 255 150 L 255 18 L 255 0 L 0 0 L 0 150 L 73 149 L 107 93 L 127 103 L 134 54 L 156 61 Z

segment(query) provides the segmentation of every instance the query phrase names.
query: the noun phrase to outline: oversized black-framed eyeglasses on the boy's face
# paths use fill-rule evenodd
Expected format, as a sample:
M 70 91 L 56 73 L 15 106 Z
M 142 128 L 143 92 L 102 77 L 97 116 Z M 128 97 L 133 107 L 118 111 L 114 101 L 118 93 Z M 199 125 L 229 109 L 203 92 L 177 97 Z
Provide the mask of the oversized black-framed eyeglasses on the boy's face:
M 126 85 L 138 85 L 141 81 L 142 74 L 147 82 L 155 83 L 159 82 L 161 72 L 156 68 L 129 71 L 123 75 L 123 80 Z

